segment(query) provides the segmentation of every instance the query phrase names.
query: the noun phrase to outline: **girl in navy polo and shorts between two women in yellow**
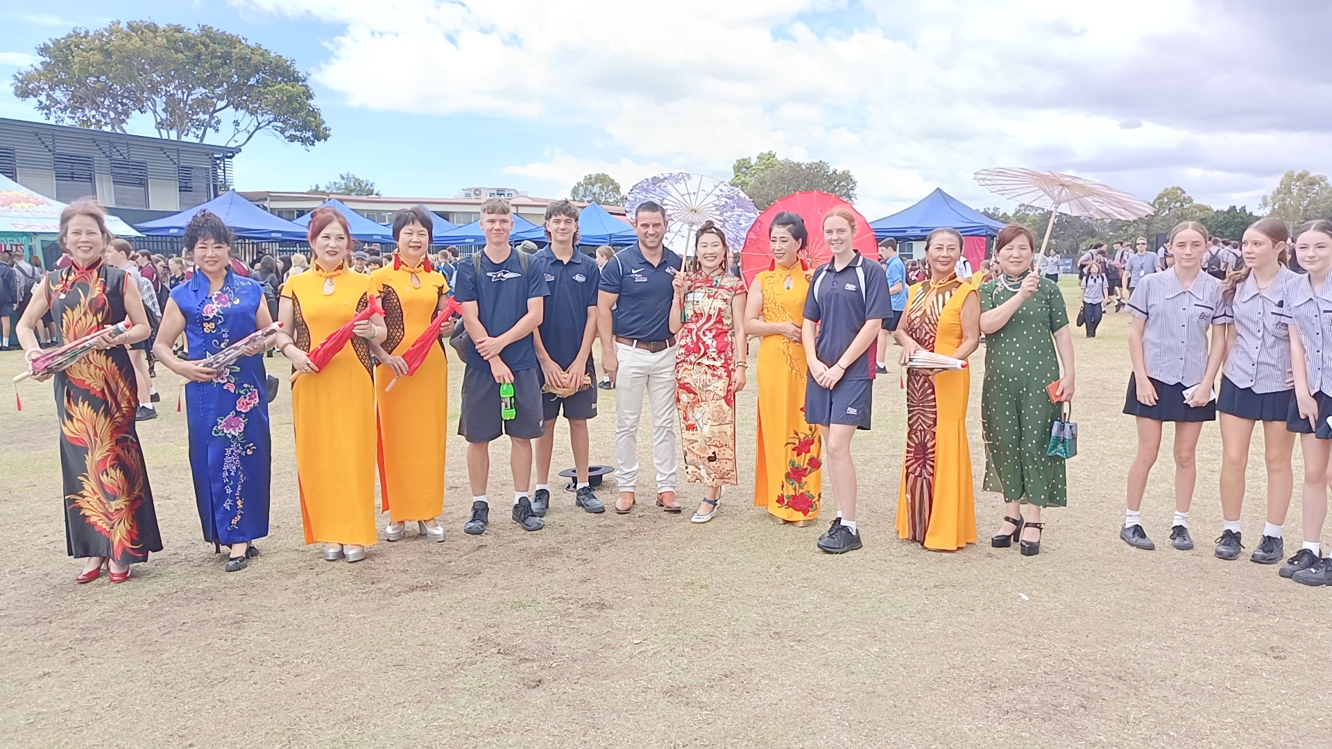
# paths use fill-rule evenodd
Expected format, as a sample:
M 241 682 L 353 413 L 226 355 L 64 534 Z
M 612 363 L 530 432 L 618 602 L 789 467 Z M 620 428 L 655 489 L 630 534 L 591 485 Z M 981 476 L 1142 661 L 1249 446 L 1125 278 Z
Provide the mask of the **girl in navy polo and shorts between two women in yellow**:
M 834 208 L 823 216 L 823 241 L 832 260 L 814 272 L 805 297 L 803 336 L 810 367 L 805 386 L 805 420 L 823 428 L 827 472 L 832 478 L 836 517 L 819 537 L 819 549 L 830 554 L 862 546 L 855 526 L 855 464 L 851 437 L 870 428 L 874 385 L 875 339 L 883 319 L 892 315 L 883 267 L 851 247 L 855 215 Z

